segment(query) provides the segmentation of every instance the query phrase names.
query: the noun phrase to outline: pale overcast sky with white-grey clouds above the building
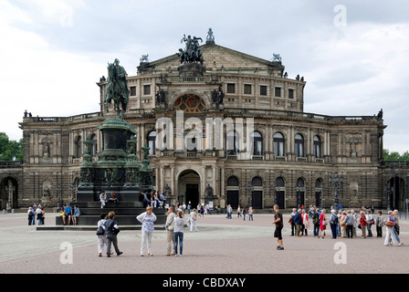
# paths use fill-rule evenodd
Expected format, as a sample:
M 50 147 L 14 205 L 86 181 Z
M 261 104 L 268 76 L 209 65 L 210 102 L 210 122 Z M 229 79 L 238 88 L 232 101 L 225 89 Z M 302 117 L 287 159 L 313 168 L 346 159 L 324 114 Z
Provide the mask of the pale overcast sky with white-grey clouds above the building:
M 96 82 L 114 58 L 136 75 L 140 57 L 170 56 L 186 35 L 256 57 L 282 57 L 307 81 L 304 110 L 372 116 L 383 109 L 383 144 L 409 151 L 407 0 L 0 2 L 0 131 L 18 122 L 100 110 Z

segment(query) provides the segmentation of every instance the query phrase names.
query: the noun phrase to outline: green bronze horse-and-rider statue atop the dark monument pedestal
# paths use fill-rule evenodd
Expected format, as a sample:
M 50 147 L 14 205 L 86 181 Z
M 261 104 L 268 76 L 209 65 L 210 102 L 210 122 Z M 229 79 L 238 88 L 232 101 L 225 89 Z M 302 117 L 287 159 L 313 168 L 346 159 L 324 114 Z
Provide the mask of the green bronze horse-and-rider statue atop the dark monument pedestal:
M 126 81 L 126 71 L 120 66 L 120 60 L 115 59 L 113 63 L 108 63 L 108 85 L 106 89 L 106 109 L 111 100 L 114 102 L 114 110 L 120 115 L 121 110 L 126 111 L 126 106 L 130 97 L 130 90 Z M 120 110 L 121 105 L 121 110 Z

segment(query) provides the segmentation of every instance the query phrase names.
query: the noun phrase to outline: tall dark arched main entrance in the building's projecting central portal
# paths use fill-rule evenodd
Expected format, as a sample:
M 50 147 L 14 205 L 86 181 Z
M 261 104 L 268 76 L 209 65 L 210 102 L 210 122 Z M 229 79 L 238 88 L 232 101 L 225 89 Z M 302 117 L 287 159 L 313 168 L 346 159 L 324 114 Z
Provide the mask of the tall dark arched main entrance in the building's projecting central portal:
M 196 207 L 200 203 L 201 180 L 198 172 L 194 170 L 184 170 L 177 178 L 179 203 L 190 203 Z

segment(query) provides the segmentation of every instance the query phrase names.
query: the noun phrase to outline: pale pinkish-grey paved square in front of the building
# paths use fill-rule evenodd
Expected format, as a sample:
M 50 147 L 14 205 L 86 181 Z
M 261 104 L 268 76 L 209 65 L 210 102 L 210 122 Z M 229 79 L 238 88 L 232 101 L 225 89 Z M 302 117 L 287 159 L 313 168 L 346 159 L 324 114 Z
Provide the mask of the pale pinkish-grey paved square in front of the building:
M 54 216 L 47 214 L 46 225 Z M 197 233 L 184 230 L 184 255 L 165 256 L 165 231 L 155 230 L 153 256 L 140 256 L 141 231 L 122 230 L 118 241 L 123 255 L 99 257 L 94 231 L 37 231 L 28 226 L 26 214 L 0 214 L 0 273 L 2 274 L 275 274 L 275 273 L 408 273 L 409 221 L 401 214 L 403 246 L 387 247 L 383 238 L 325 239 L 312 235 L 293 237 L 289 234 L 289 214 L 284 214 L 285 250 L 276 249 L 273 238 L 273 214 L 255 214 L 254 221 L 243 217 L 226 219 L 224 214 L 199 217 Z M 246 218 L 247 219 L 247 218 Z M 121 228 L 121 222 L 120 228 Z M 96 229 L 96 228 L 95 228 Z M 342 245 L 343 243 L 345 245 Z M 337 247 L 338 246 L 338 247 Z M 339 249 L 341 246 L 342 248 Z M 68 259 L 72 247 L 71 263 Z M 344 253 L 343 253 L 344 252 Z M 342 254 L 342 257 L 340 255 Z M 62 258 L 62 260 L 61 260 Z M 340 264 L 340 258 L 346 264 Z M 338 260 L 337 260 L 338 259 Z M 338 264 L 337 264 L 338 262 Z M 279 269 L 277 269 L 279 264 Z M 309 264 L 309 265 L 307 265 Z M 177 266 L 177 269 L 175 269 Z M 313 268 L 312 268 L 313 266 Z

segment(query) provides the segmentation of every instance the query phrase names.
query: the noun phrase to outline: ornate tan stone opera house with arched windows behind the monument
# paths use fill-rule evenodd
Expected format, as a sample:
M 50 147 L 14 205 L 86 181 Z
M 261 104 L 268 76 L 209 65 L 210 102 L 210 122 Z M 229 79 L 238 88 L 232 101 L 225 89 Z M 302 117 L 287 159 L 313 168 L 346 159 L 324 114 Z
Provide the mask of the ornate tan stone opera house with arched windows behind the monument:
M 181 76 L 180 57 L 174 54 L 152 62 L 144 60 L 137 74 L 127 77 L 131 94 L 124 119 L 138 132 L 138 160 L 143 159 L 142 147 L 150 147 L 153 186 L 169 192 L 168 200 L 193 204 L 211 201 L 222 207 L 230 203 L 234 208 L 249 203 L 255 208 L 274 203 L 282 208 L 299 203 L 330 207 L 335 185 L 329 177 L 338 172 L 342 176 L 338 188 L 341 205 L 386 207 L 385 185 L 393 172 L 383 165 L 386 126 L 382 119 L 304 112 L 306 81 L 299 75 L 288 78 L 280 59 L 249 56 L 214 41 L 206 42 L 200 50 L 203 76 Z M 83 141 L 87 136 L 93 141 L 90 152 L 96 160 L 101 149 L 98 126 L 115 114 L 110 104 L 107 113 L 104 102 L 106 79 L 100 78 L 97 85 L 99 112 L 23 119 L 24 164 L 0 171 L 2 190 L 7 178 L 18 185 L 15 207 L 75 201 Z M 202 122 L 203 147 L 186 138 L 193 128 L 186 122 L 178 127 L 176 110 L 183 111 L 184 121 Z M 161 118 L 173 121 L 173 149 L 158 148 L 161 129 L 156 126 Z M 254 130 L 245 130 L 242 136 L 233 132 L 229 141 L 231 133 L 225 127 L 223 147 L 213 143 L 206 147 L 206 133 L 212 128 L 206 125 L 206 118 L 242 119 L 245 128 L 246 121 L 253 119 Z M 236 143 L 246 141 L 246 137 L 252 140 L 244 155 L 237 151 Z M 194 149 L 188 149 L 189 143 Z M 405 185 L 407 174 L 400 177 Z M 206 197 L 208 187 L 212 197 Z M 400 196 L 402 201 L 403 193 Z

